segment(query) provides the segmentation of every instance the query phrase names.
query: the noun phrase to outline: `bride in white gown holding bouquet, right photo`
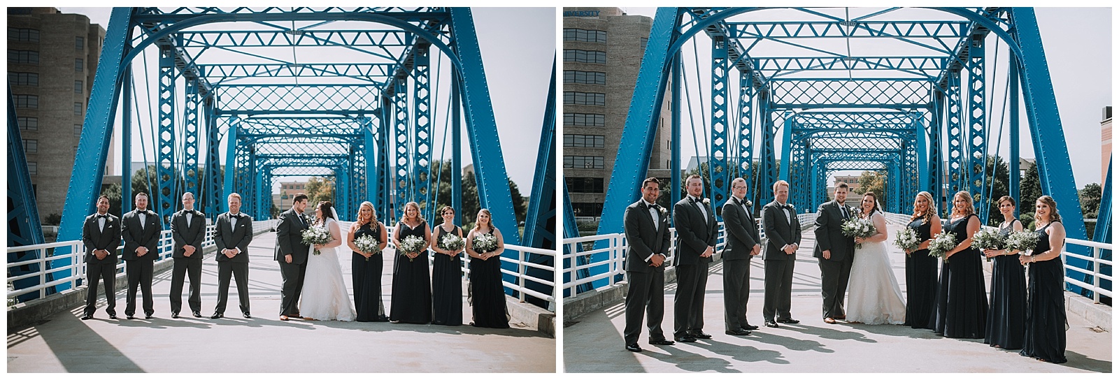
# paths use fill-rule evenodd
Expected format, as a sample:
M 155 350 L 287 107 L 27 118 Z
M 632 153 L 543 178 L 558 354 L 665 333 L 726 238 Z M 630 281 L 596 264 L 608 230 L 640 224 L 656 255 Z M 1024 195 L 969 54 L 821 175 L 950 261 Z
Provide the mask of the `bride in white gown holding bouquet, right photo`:
M 847 322 L 903 324 L 905 302 L 886 257 L 886 218 L 876 207 L 877 202 L 873 192 L 863 196 L 859 217 L 869 219 L 877 232 L 867 238 L 855 238 L 862 248 L 855 248 L 855 263 L 850 267 Z

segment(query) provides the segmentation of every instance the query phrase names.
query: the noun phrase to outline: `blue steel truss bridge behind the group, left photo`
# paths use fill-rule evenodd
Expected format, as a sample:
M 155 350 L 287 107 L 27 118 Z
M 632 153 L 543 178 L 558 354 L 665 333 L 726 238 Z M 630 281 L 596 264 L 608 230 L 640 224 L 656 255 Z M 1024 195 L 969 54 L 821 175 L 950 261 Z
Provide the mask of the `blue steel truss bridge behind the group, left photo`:
M 391 225 L 414 200 L 429 220 L 438 220 L 439 207 L 453 206 L 461 225 L 460 169 L 469 154 L 479 206 L 492 211 L 506 243 L 555 249 L 554 79 L 546 96 L 544 88 L 526 89 L 546 106 L 519 232 L 481 58 L 469 8 L 114 8 L 57 240 L 81 239 L 83 217 L 94 212 L 102 189 L 110 140 L 120 130 L 122 209 L 131 208 L 129 178 L 141 169 L 131 163 L 153 165 L 151 209 L 163 217 L 164 230 L 186 191 L 209 218 L 237 192 L 242 211 L 264 220 L 276 180 L 311 175 L 336 183 L 333 201 L 344 219 L 368 200 Z M 44 243 L 10 102 L 9 91 L 9 248 Z M 144 158 L 131 156 L 135 145 Z M 433 162 L 452 165 L 451 178 Z M 444 182 L 451 196 L 440 199 Z M 72 273 L 68 250 L 9 253 L 9 263 L 34 262 L 9 267 L 15 287 L 44 288 L 19 301 L 79 283 L 67 279 L 81 277 Z M 526 270 L 506 262 L 505 279 L 535 278 L 524 281 L 536 293 L 529 298 L 547 307 L 542 300 L 552 293 L 553 258 L 506 255 L 536 265 Z

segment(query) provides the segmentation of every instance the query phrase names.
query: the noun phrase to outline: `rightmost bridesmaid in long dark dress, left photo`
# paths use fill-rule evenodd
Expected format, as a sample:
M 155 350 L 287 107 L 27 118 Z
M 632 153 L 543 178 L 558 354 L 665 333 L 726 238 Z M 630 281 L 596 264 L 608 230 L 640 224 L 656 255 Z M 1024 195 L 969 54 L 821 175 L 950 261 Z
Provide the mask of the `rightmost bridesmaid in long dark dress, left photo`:
M 470 325 L 508 329 L 509 313 L 505 307 L 505 285 L 501 285 L 501 253 L 505 251 L 505 240 L 490 218 L 489 210 L 478 210 L 474 228 L 467 235 L 467 255 L 470 255 L 470 294 L 473 297 L 471 304 L 474 314 L 474 322 L 470 322 Z M 497 249 L 488 253 L 476 251 L 473 239 L 480 235 L 497 237 Z

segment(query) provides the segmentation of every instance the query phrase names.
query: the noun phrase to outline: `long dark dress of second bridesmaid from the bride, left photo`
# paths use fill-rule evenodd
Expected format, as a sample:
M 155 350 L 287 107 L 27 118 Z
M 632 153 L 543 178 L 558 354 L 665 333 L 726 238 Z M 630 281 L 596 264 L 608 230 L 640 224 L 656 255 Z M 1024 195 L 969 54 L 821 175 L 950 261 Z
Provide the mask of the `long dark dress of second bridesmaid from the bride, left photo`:
M 408 236 L 424 238 L 426 221 L 415 228 L 406 224 L 398 225 L 399 240 Z M 393 301 L 388 319 L 405 323 L 431 323 L 431 275 L 427 269 L 427 250 L 424 249 L 415 259 L 396 253 L 393 258 Z

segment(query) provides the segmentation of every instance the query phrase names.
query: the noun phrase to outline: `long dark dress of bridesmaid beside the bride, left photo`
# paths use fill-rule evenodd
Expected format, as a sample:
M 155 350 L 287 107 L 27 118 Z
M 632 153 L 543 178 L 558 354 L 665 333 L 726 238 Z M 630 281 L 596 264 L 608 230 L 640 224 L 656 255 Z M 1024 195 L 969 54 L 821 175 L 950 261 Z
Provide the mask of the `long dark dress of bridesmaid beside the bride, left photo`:
M 380 240 L 380 224 L 368 222 L 354 231 L 354 238 L 373 236 Z M 384 243 L 384 241 L 382 241 Z M 358 322 L 385 322 L 385 304 L 380 301 L 380 273 L 385 266 L 385 255 L 377 254 L 366 260 L 365 256 L 354 253 L 350 269 L 354 273 L 354 307 L 357 308 Z

